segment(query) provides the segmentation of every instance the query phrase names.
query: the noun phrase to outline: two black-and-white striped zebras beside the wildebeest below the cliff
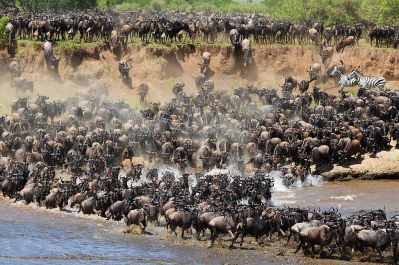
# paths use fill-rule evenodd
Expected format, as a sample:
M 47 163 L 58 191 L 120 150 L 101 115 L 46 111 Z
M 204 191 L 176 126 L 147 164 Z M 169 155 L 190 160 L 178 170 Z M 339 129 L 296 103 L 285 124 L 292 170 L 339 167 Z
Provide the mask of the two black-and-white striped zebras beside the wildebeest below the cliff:
M 358 85 L 360 88 L 372 89 L 378 87 L 381 92 L 385 92 L 384 87 L 387 82 L 384 77 L 364 76 L 359 70 L 355 69 L 350 75 L 344 75 L 336 66 L 331 68 L 330 77 L 336 77 L 338 83 L 341 84 L 340 91 L 344 87 L 354 87 Z

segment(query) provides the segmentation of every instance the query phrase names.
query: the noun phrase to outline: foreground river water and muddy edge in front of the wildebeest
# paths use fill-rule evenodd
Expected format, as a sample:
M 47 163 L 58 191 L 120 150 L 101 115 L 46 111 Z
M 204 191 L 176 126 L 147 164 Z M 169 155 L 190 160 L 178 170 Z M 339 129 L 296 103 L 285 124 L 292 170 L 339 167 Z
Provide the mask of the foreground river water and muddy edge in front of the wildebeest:
M 259 247 L 254 238 L 245 238 L 242 247 L 228 249 L 215 244 L 206 249 L 207 237 L 197 241 L 194 235 L 185 239 L 169 235 L 165 227 L 149 225 L 145 234 L 124 234 L 122 222 L 106 221 L 97 216 L 77 214 L 77 209 L 47 210 L 33 203 L 12 204 L 0 196 L 0 262 L 30 264 L 79 262 L 83 264 L 374 264 L 377 257 L 361 258 L 355 253 L 349 261 L 340 260 L 339 253 L 323 259 L 294 254 L 296 244 L 284 247 L 285 239 L 264 240 Z M 193 230 L 194 231 L 194 230 Z M 39 246 L 39 247 L 38 247 Z M 318 248 L 316 248 L 318 249 Z M 386 253 L 388 262 L 391 253 Z

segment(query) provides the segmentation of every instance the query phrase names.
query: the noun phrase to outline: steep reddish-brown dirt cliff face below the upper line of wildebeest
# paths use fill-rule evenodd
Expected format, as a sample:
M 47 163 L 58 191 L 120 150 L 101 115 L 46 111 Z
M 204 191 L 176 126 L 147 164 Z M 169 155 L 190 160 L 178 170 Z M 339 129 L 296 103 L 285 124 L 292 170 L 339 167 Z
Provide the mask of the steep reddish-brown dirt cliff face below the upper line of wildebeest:
M 236 52 L 229 45 L 183 45 L 174 48 L 131 45 L 120 58 L 114 56 L 105 45 L 54 46 L 55 56 L 61 57 L 60 76 L 70 82 L 70 86 L 87 86 L 100 81 L 111 84 L 111 95 L 114 93 L 122 98 L 132 97 L 132 93 L 123 87 L 119 79 L 118 62 L 132 58 L 133 85 L 138 87 L 143 82 L 147 83 L 150 86 L 150 100 L 172 98 L 171 88 L 176 81 L 186 83 L 186 92 L 195 91 L 193 76 L 200 74 L 198 62 L 204 51 L 211 54 L 207 77 L 214 81 L 216 89 L 229 90 L 232 86 L 246 83 L 277 87 L 284 82 L 282 75 L 292 75 L 298 81 L 309 79 L 306 69 L 313 63 L 321 64 L 316 47 L 300 45 L 253 46 L 253 61 L 247 74 L 241 51 Z M 31 75 L 35 80 L 40 80 L 47 71 L 40 43 L 22 43 L 14 59 L 22 65 L 24 74 Z M 344 53 L 334 53 L 327 64 L 322 65 L 322 72 L 340 60 L 346 64 L 347 74 L 356 68 L 365 75 L 384 76 L 388 80 L 387 87 L 399 89 L 397 50 L 349 47 Z M 332 81 L 331 84 L 319 86 L 336 93 L 337 86 L 332 87 Z

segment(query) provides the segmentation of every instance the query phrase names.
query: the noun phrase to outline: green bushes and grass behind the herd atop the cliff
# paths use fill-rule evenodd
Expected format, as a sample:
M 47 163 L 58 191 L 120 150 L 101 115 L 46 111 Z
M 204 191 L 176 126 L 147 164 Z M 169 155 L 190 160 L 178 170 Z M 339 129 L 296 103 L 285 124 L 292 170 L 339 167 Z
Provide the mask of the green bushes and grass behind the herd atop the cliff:
M 10 0 L 8 0 L 10 1 Z M 399 0 L 18 0 L 20 6 L 36 12 L 54 9 L 66 10 L 105 9 L 155 10 L 181 9 L 217 12 L 260 12 L 276 19 L 289 19 L 301 23 L 306 19 L 324 20 L 326 26 L 336 21 L 354 24 L 372 20 L 377 24 L 398 23 Z

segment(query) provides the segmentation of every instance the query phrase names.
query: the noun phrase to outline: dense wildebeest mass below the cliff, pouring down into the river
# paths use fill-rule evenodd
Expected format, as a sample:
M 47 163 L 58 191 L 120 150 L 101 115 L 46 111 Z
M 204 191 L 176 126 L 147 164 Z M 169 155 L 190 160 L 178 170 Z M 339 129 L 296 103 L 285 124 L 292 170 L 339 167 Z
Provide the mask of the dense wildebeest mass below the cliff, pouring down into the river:
M 50 48 L 44 55 L 56 64 Z M 209 63 L 205 53 L 201 69 Z M 130 68 L 126 61 L 119 64 L 121 75 L 128 76 Z M 10 71 L 22 70 L 12 61 Z M 358 70 L 345 76 L 342 61 L 324 74 L 318 64 L 308 72 L 309 81 L 285 76 L 281 95 L 253 85 L 215 90 L 201 74 L 193 80 L 197 92 L 187 95 L 186 84 L 177 82 L 171 88 L 175 98 L 140 110 L 107 99 L 108 87 L 101 83 L 67 99 L 19 97 L 11 115 L 0 117 L 2 193 L 47 208 L 70 205 L 83 214 L 125 219 L 143 231 L 162 215 L 171 233 L 182 228 L 182 237 L 193 227 L 201 239 L 209 229 L 208 247 L 221 243 L 220 234 L 228 234 L 233 247 L 239 237 L 240 244 L 245 236 L 260 243 L 277 232 L 278 238 L 294 235 L 297 251 L 311 248 L 311 255 L 314 245 L 327 246 L 329 254 L 347 246 L 382 254 L 393 244 L 395 261 L 399 218 L 387 220 L 383 210 L 345 218 L 336 209 L 267 207 L 271 170 L 280 169 L 289 187 L 303 181 L 311 165 L 319 170 L 325 163 L 350 163 L 356 155 L 390 148 L 399 135 L 399 93 L 386 91 L 384 78 Z M 309 93 L 309 83 L 319 77 L 336 79 L 341 95 L 317 87 Z M 346 86 L 359 86 L 357 95 L 344 91 Z M 141 102 L 149 90 L 139 86 Z M 158 172 L 160 165 L 180 174 Z M 227 166 L 235 173 L 210 171 Z

